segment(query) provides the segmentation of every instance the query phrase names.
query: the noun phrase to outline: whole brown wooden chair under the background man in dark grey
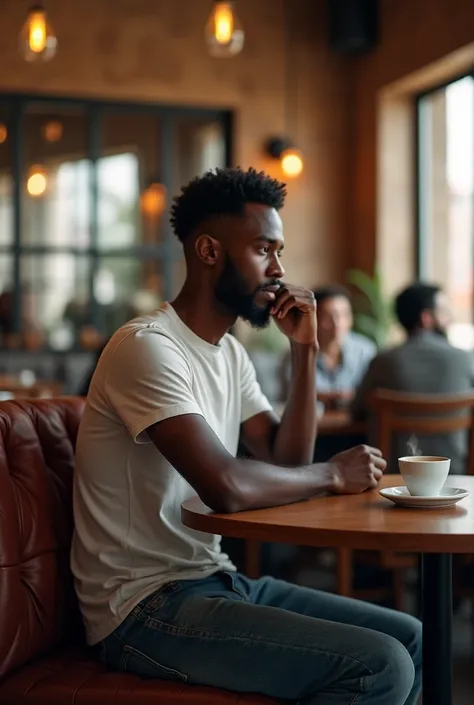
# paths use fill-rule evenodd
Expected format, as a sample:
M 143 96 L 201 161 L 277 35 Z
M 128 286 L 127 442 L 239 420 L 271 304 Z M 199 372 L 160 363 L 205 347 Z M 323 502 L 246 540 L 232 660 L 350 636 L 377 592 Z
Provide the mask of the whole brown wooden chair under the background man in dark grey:
M 372 397 L 371 408 L 376 417 L 377 446 L 385 458 L 392 457 L 397 433 L 434 436 L 464 430 L 469 436 L 466 473 L 474 475 L 474 394 L 419 395 L 380 389 Z M 404 574 L 407 568 L 416 565 L 416 559 L 409 554 L 382 551 L 375 560 L 392 572 L 393 601 L 402 609 Z M 338 552 L 337 588 L 341 595 L 370 597 L 353 589 L 353 554 L 348 549 Z

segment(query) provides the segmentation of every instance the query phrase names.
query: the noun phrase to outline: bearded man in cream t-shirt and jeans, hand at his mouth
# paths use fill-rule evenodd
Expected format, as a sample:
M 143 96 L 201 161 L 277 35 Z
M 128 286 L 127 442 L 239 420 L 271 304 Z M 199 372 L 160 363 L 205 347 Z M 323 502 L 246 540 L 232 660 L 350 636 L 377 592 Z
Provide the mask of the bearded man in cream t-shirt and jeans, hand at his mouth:
M 187 278 L 173 303 L 110 340 L 77 444 L 72 568 L 90 644 L 113 669 L 308 705 L 413 705 L 420 624 L 408 615 L 248 580 L 220 539 L 181 524 L 196 493 L 233 512 L 376 487 L 385 461 L 358 447 L 312 465 L 314 297 L 282 282 L 283 184 L 208 172 L 172 207 Z M 228 334 L 273 317 L 291 341 L 281 422 Z M 260 460 L 236 458 L 239 435 Z

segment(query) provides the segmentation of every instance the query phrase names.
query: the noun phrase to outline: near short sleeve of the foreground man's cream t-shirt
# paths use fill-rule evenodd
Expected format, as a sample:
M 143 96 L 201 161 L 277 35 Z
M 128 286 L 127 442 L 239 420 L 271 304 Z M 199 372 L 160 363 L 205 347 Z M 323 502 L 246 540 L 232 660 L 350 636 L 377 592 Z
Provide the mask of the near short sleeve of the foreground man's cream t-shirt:
M 136 443 L 148 443 L 146 429 L 158 421 L 200 414 L 192 371 L 176 343 L 146 328 L 119 343 L 107 371 L 109 403 Z

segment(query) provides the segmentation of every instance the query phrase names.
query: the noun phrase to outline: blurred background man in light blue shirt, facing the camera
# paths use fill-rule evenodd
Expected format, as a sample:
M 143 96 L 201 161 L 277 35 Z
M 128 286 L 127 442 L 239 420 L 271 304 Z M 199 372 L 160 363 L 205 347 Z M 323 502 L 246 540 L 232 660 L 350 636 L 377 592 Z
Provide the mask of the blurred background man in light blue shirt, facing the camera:
M 353 316 L 347 289 L 337 285 L 325 286 L 314 289 L 313 294 L 318 317 L 318 399 L 327 408 L 339 408 L 352 399 L 377 348 L 371 340 L 351 330 Z M 288 367 L 286 360 L 286 383 Z M 286 387 L 284 393 L 286 398 Z

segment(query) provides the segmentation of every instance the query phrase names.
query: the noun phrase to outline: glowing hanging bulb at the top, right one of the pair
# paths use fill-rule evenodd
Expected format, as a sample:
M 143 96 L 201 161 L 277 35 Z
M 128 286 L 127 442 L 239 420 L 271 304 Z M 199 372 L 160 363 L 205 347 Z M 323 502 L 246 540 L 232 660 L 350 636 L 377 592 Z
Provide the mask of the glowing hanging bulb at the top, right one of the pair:
M 214 2 L 206 24 L 206 42 L 211 56 L 235 56 L 244 46 L 244 30 L 233 2 Z

